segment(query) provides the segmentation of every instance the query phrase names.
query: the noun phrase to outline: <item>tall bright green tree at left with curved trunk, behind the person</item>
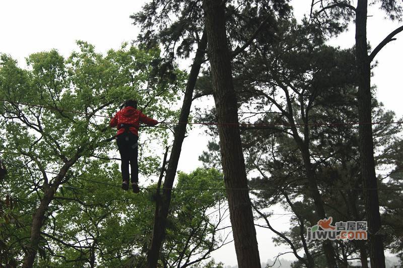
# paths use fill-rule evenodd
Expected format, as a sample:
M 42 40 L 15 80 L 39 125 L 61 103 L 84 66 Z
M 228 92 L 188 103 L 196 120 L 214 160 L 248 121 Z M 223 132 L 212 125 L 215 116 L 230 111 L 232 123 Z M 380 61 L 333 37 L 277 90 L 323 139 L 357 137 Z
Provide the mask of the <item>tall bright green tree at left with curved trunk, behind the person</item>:
M 2 153 L 10 171 L 1 191 L 25 203 L 14 212 L 23 223 L 21 234 L 8 241 L 20 248 L 12 256 L 18 263 L 25 252 L 24 267 L 32 266 L 38 250 L 44 256 L 42 232 L 53 216 L 50 209 L 60 186 L 115 150 L 106 142 L 113 135 L 106 126 L 120 103 L 136 98 L 147 114 L 169 119 L 176 114 L 169 106 L 183 86 L 178 70 L 178 80 L 158 76 L 163 63 L 159 50 L 124 44 L 103 56 L 88 43 L 78 45 L 80 51 L 68 59 L 56 50 L 32 54 L 27 70 L 1 55 Z M 161 128 L 146 131 L 152 139 L 168 137 Z M 144 174 L 153 173 L 155 158 L 142 156 Z

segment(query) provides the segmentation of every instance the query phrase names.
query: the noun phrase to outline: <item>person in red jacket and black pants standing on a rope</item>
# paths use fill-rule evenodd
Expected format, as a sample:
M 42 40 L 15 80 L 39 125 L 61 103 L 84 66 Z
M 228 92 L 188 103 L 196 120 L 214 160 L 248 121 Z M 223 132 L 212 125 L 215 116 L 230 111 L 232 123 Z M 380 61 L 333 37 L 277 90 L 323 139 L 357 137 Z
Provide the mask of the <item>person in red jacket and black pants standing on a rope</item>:
M 111 127 L 117 127 L 116 142 L 121 158 L 122 189 L 129 187 L 129 163 L 131 173 L 131 186 L 133 192 L 138 193 L 139 188 L 139 127 L 140 123 L 154 126 L 157 120 L 147 117 L 137 109 L 136 100 L 126 100 L 124 107 L 110 120 Z

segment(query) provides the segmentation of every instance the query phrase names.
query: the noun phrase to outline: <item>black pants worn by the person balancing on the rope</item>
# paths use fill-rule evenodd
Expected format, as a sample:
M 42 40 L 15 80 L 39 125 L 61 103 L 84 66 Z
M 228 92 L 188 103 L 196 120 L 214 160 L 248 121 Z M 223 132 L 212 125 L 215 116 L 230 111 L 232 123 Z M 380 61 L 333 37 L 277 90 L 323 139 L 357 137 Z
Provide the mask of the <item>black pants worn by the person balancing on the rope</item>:
M 137 159 L 139 156 L 139 137 L 133 133 L 122 133 L 117 136 L 117 147 L 119 148 L 120 158 L 122 160 L 121 170 L 123 181 L 129 180 L 129 163 L 131 173 L 131 183 L 139 182 L 139 165 Z

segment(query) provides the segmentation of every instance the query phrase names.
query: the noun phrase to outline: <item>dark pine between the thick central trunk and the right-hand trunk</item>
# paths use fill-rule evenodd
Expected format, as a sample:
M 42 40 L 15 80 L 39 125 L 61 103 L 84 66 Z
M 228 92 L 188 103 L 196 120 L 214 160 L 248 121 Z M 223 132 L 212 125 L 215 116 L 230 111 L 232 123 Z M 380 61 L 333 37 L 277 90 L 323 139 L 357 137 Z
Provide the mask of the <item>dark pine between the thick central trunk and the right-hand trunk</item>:
M 358 213 L 362 211 L 358 203 L 361 191 L 331 191 L 331 188 L 338 187 L 362 187 L 361 180 L 357 179 L 358 153 L 352 150 L 358 149 L 356 129 L 350 125 L 332 125 L 334 122 L 358 121 L 355 108 L 354 54 L 352 50 L 339 50 L 323 45 L 324 38 L 321 37 L 320 29 L 306 22 L 296 25 L 295 22 L 286 21 L 279 29 L 279 36 L 276 38 L 278 41 L 267 43 L 258 38 L 248 52 L 240 55 L 239 64 L 236 64 L 237 61 L 234 64 L 237 92 L 242 97 L 238 105 L 248 103 L 242 106 L 240 114 L 250 118 L 249 122 L 257 123 L 242 127 L 243 147 L 247 170 L 262 173 L 262 180 L 256 181 L 254 185 L 270 188 L 276 186 L 285 191 L 266 191 L 261 196 L 259 207 L 277 204 L 288 195 L 290 202 L 284 200 L 285 207 L 296 215 L 295 221 L 299 222 L 299 226 L 291 233 L 283 236 L 279 234 L 279 241 L 286 241 L 295 246 L 297 251 L 304 249 L 305 256 L 297 255 L 301 257 L 298 265 L 312 266 L 309 255 L 313 256 L 316 263 L 319 261 L 318 252 L 323 251 L 315 247 L 311 252 L 311 248 L 304 247 L 301 238 L 307 222 L 314 224 L 320 219 L 312 217 L 312 211 L 316 213 L 318 210 L 317 204 L 312 203 L 313 195 L 309 194 L 315 187 L 306 181 L 307 162 L 312 162 L 313 178 L 318 189 L 327 189 L 320 190 L 326 215 L 333 215 L 333 218 L 337 215 L 342 220 L 363 219 L 363 215 Z M 373 113 L 376 115 L 374 121 L 393 121 L 392 113 L 383 113 L 378 106 L 376 102 L 373 103 Z M 292 107 L 292 113 L 289 107 Z M 210 117 L 209 120 L 212 120 Z M 316 125 L 322 122 L 330 125 Z M 294 123 L 298 124 L 295 126 L 296 131 L 292 129 Z M 395 138 L 400 130 L 399 127 L 390 125 L 379 125 L 374 129 L 379 137 L 379 146 L 390 143 L 388 139 Z M 295 132 L 307 141 L 309 161 L 305 161 L 302 156 Z M 209 148 L 212 149 L 211 152 L 201 157 L 201 160 L 208 161 L 207 166 L 212 162 L 219 162 L 214 145 L 211 144 Z M 385 160 L 382 160 L 382 164 L 384 163 Z M 322 178 L 329 179 L 322 181 Z M 291 194 L 287 191 L 289 187 L 301 189 L 301 192 L 298 190 L 296 194 Z M 309 190 L 303 191 L 303 188 Z M 304 194 L 303 202 L 299 200 L 300 193 Z M 270 201 L 263 202 L 264 199 Z M 334 211 L 328 200 L 337 200 L 334 201 L 337 204 L 346 203 L 344 209 L 348 213 L 340 213 L 343 209 Z M 357 207 L 351 207 L 350 204 L 357 204 Z M 366 246 L 363 243 L 349 248 L 337 243 L 333 247 L 340 265 L 347 265 L 346 258 L 358 251 L 363 265 L 366 263 Z M 297 251 L 294 253 L 298 254 Z

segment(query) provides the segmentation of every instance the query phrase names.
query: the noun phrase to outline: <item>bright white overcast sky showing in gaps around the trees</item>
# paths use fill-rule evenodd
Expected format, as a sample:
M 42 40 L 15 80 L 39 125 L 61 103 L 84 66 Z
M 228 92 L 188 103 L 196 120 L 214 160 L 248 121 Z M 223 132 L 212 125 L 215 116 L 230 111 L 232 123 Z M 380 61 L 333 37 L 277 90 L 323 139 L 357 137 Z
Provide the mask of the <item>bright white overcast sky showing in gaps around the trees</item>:
M 292 1 L 297 17 L 309 12 L 310 2 Z M 76 40 L 88 41 L 100 52 L 106 52 L 110 48 L 117 49 L 121 43 L 136 38 L 139 29 L 131 24 L 129 16 L 139 11 L 142 3 L 144 1 L 136 0 L 2 1 L 0 53 L 10 54 L 24 65 L 24 58 L 29 54 L 52 48 L 68 56 L 77 49 Z M 370 15 L 373 17 L 368 18 L 368 40 L 375 47 L 399 24 L 385 20 L 384 15 L 377 10 L 370 10 Z M 349 31 L 330 43 L 344 48 L 351 47 L 354 44 L 354 32 Z M 375 76 L 372 79 L 373 84 L 378 87 L 378 99 L 387 109 L 395 111 L 398 117 L 403 115 L 402 47 L 403 33 L 400 33 L 396 41 L 389 43 L 377 55 L 379 65 L 374 70 Z M 190 172 L 200 165 L 197 158 L 206 150 L 207 141 L 208 137 L 198 127 L 189 133 L 183 144 L 180 170 Z M 288 224 L 288 217 L 273 217 L 273 225 L 280 230 L 284 230 L 284 226 Z M 274 247 L 270 232 L 257 229 L 257 237 L 261 261 L 286 251 L 286 248 Z M 236 264 L 233 244 L 220 249 L 213 256 L 227 265 Z

